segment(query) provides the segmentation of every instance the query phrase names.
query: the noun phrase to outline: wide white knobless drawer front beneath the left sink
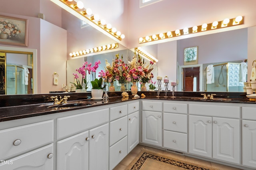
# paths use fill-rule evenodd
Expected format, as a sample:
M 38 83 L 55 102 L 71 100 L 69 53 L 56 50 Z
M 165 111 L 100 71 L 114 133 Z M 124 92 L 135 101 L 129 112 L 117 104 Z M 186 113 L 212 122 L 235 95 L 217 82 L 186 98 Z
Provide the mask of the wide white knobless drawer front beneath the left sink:
M 108 122 L 108 109 L 82 113 L 57 119 L 57 139 Z

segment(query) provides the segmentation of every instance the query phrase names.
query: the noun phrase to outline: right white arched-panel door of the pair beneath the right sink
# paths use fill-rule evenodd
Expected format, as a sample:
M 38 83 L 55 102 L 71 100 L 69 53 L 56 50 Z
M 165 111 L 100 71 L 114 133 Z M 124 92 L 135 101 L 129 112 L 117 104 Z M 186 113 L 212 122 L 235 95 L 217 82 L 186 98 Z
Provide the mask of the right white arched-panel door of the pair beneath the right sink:
M 239 119 L 212 118 L 212 158 L 240 163 Z

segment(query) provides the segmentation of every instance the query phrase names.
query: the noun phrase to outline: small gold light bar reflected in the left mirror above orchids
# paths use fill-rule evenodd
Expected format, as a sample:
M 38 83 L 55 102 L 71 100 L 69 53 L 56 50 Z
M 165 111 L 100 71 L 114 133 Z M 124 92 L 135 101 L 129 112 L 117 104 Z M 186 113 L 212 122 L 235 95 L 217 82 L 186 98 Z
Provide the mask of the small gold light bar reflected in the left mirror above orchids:
M 105 51 L 105 50 L 114 49 L 114 48 L 118 48 L 118 43 L 112 43 L 112 45 L 108 44 L 108 45 L 103 45 L 103 46 L 94 47 L 94 48 L 90 48 L 90 49 L 84 49 L 82 51 L 76 51 L 76 52 L 73 52 L 73 53 L 69 53 L 69 55 L 71 57 L 77 57 L 79 55 L 85 55 L 85 54 L 89 54 L 89 53 L 96 53 L 96 52 Z

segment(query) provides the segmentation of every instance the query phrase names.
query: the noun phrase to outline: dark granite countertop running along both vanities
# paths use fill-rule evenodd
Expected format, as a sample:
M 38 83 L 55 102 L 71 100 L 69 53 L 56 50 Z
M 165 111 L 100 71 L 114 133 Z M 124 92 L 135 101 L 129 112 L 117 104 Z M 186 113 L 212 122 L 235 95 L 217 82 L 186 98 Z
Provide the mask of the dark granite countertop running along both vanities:
M 60 113 L 64 111 L 72 111 L 77 109 L 84 109 L 88 107 L 96 107 L 101 105 L 109 105 L 114 103 L 120 103 L 125 101 L 137 100 L 130 94 L 129 98 L 123 99 L 121 97 L 122 92 L 110 92 L 108 93 L 108 103 L 104 101 L 94 101 L 90 96 L 90 93 L 68 93 L 70 95 L 69 103 L 78 101 L 90 101 L 94 102 L 90 105 L 81 105 L 77 107 L 49 107 L 53 105 L 50 96 L 60 95 L 64 97 L 67 93 L 54 93 L 54 94 L 37 94 L 37 95 L 4 95 L 0 97 L 0 122 L 10 121 L 14 119 L 22 119 L 27 117 L 35 117 L 40 115 L 48 115 L 52 113 Z M 129 93 L 129 92 L 128 92 Z M 201 102 L 225 102 L 225 103 L 256 103 L 250 101 L 245 93 L 219 93 L 214 96 L 214 99 L 203 99 L 200 93 L 188 93 L 180 92 L 176 93 L 177 97 L 172 98 L 171 95 L 164 97 L 164 93 L 160 93 L 161 97 L 156 97 L 156 92 L 138 92 L 138 95 L 144 93 L 146 97 L 140 99 L 157 99 L 157 100 L 172 100 L 172 101 L 201 101 Z M 170 92 L 169 92 L 170 93 Z

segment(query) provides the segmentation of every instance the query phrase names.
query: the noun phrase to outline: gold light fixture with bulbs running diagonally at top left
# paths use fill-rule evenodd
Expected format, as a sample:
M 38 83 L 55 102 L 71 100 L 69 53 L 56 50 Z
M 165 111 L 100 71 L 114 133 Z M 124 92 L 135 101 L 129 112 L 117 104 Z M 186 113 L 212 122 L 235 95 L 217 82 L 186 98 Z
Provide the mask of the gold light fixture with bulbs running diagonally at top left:
M 92 10 L 90 8 L 84 9 L 84 4 L 81 1 L 78 1 L 78 2 L 74 0 L 51 0 L 51 1 L 111 38 L 114 37 L 115 39 L 118 39 L 121 41 L 125 37 L 124 34 L 121 34 L 120 31 L 116 31 L 116 28 L 114 28 L 115 31 L 113 31 L 111 24 L 106 24 L 105 20 L 100 20 L 98 15 L 92 14 Z

